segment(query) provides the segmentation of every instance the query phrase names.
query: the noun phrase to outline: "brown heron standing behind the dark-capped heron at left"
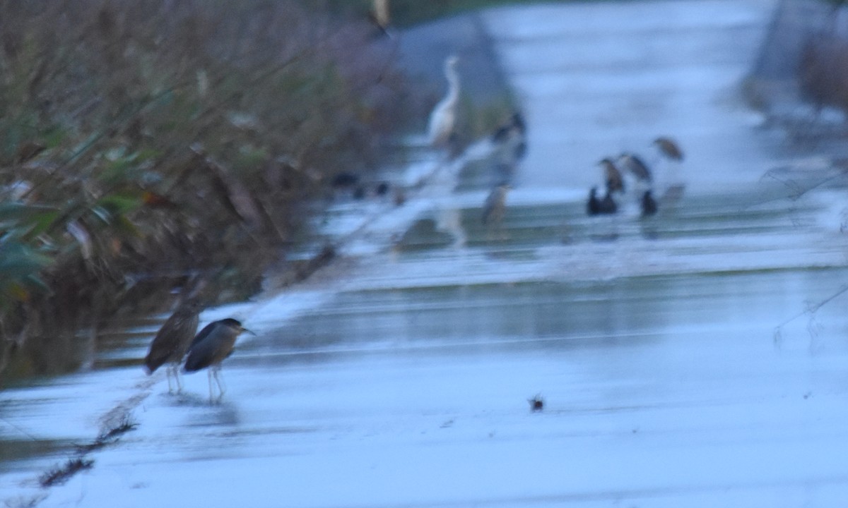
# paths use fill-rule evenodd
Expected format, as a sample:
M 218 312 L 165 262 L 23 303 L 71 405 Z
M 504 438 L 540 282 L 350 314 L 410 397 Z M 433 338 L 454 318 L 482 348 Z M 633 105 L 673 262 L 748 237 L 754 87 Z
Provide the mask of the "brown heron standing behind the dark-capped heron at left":
M 148 374 L 167 363 L 168 392 L 173 392 L 170 378 L 176 379 L 176 389 L 182 391 L 179 367 L 182 357 L 186 356 L 188 345 L 192 343 L 194 334 L 198 333 L 198 314 L 202 306 L 196 300 L 189 300 L 177 307 L 162 328 L 159 329 L 153 342 L 150 343 L 148 356 L 144 357 L 144 367 Z

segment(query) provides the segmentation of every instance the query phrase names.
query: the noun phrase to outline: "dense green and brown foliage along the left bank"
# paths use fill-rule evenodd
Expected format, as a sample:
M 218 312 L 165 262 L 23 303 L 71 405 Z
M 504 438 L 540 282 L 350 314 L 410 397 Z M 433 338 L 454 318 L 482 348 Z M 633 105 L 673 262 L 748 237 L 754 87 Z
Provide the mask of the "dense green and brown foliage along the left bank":
M 0 1 L 0 373 L 74 368 L 79 330 L 190 279 L 250 294 L 377 167 L 409 83 L 330 4 Z

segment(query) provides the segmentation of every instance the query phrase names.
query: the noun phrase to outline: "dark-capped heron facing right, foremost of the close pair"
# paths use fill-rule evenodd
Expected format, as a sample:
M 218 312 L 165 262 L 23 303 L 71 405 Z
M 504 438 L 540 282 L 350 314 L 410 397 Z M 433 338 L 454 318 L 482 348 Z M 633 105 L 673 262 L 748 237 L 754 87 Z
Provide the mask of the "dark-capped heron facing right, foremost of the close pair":
M 224 396 L 226 388 L 220 379 L 220 362 L 227 356 L 232 355 L 236 338 L 244 332 L 253 333 L 244 328 L 242 323 L 227 317 L 204 326 L 197 337 L 192 340 L 188 347 L 186 365 L 183 367 L 187 373 L 196 372 L 202 368 L 209 367 L 209 400 L 214 400 L 212 391 L 212 379 L 218 384 L 218 399 Z

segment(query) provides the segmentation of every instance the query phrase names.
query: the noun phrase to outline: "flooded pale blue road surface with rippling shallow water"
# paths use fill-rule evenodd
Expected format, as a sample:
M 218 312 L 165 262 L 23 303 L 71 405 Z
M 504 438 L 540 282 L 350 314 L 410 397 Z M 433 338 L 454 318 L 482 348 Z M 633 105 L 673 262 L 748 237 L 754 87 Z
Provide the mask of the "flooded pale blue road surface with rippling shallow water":
M 338 262 L 204 312 L 257 332 L 226 362 L 220 403 L 203 373 L 169 395 L 164 373 L 123 365 L 149 325 L 91 372 L 4 391 L 4 500 L 838 505 L 848 296 L 816 304 L 848 284 L 844 191 L 793 200 L 763 179 L 812 181 L 824 163 L 793 158 L 737 100 L 773 6 L 483 13 L 530 124 L 503 222 L 480 223 L 485 157 L 439 169 L 423 155 L 409 179 L 435 173 L 403 207 L 339 202 L 321 218 L 348 239 Z M 682 200 L 639 218 L 631 193 L 587 217 L 597 159 L 668 133 L 687 158 L 655 164 Z M 91 470 L 38 487 L 126 416 L 137 428 L 89 454 Z

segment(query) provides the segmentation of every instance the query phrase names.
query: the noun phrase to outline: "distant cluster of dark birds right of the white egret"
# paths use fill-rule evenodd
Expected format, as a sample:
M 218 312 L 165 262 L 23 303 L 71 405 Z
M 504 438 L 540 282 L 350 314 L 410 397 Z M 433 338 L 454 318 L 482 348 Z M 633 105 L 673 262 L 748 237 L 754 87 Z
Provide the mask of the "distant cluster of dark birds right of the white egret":
M 683 151 L 672 138 L 658 137 L 654 140 L 653 145 L 668 160 L 675 163 L 683 161 Z M 632 175 L 634 185 L 640 189 L 639 207 L 642 210 L 642 217 L 649 217 L 657 212 L 658 206 L 651 191 L 654 183 L 653 174 L 648 168 L 648 164 L 641 157 L 634 153 L 625 152 L 616 159 L 605 157 L 598 164 L 603 170 L 606 191 L 604 197 L 599 198 L 598 188 L 592 187 L 589 191 L 589 201 L 586 202 L 586 213 L 589 215 L 611 215 L 618 212 L 618 204 L 613 196 L 616 194 L 624 195 L 624 174 Z

